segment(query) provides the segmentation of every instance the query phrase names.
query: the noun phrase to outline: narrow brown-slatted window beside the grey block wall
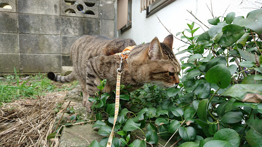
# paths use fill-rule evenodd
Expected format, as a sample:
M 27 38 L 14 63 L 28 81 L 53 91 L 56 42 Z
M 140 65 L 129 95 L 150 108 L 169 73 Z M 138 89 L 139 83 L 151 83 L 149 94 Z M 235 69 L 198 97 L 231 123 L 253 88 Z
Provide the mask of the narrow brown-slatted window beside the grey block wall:
M 132 0 L 117 1 L 117 31 L 121 33 L 132 27 Z

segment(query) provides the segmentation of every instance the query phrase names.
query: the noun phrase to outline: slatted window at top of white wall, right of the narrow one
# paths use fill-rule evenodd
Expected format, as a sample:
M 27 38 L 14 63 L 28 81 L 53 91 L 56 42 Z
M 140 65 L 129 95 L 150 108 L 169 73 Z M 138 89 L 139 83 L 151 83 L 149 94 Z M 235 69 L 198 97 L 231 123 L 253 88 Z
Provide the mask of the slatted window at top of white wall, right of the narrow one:
M 174 2 L 175 0 L 140 0 L 140 12 L 146 10 L 146 17 Z

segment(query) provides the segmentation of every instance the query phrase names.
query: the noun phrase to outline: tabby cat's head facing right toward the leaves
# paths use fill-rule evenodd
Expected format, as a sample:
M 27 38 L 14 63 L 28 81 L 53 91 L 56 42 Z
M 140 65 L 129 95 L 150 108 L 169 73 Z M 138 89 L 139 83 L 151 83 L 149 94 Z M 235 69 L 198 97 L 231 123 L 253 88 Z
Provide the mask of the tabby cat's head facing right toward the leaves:
M 172 52 L 173 36 L 168 35 L 162 43 L 158 38 L 137 46 L 130 52 L 127 62 L 136 68 L 139 81 L 164 87 L 179 83 L 180 64 Z

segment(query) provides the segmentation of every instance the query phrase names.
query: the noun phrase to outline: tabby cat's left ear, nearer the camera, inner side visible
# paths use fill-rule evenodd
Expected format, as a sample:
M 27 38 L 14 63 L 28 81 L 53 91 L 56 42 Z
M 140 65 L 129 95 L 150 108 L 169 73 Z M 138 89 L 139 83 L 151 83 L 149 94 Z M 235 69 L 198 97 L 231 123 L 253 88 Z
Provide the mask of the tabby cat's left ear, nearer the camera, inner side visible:
M 154 38 L 149 45 L 148 57 L 151 60 L 157 60 L 163 57 L 161 46 L 158 38 Z

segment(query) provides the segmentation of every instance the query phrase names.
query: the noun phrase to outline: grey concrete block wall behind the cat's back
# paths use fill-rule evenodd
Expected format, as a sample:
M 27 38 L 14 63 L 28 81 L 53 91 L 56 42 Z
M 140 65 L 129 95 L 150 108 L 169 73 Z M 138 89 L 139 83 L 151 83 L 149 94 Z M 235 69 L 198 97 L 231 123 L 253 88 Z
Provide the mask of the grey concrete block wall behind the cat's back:
M 82 35 L 114 37 L 115 0 L 0 0 L 0 73 L 61 72 Z M 82 11 L 81 11 L 82 10 Z M 84 14 L 84 13 L 85 14 Z

